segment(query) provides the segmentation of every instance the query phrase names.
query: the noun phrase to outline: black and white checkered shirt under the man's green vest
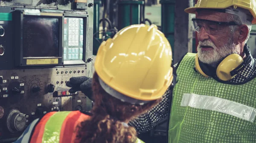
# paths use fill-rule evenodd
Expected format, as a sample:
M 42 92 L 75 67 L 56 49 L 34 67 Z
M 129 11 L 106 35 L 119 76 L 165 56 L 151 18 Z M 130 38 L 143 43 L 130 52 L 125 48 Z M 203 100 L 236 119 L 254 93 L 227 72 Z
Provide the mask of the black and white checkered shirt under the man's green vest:
M 251 56 L 251 55 L 250 55 Z M 253 59 L 253 57 L 251 56 Z M 176 64 L 177 65 L 177 64 Z M 253 59 L 239 74 L 230 80 L 234 83 L 243 82 L 256 73 L 256 59 Z M 162 101 L 157 104 L 153 109 L 149 110 L 147 113 L 140 115 L 138 118 L 130 121 L 129 126 L 133 126 L 137 133 L 148 132 L 157 125 L 157 123 L 167 115 L 169 115 L 169 97 L 172 94 L 172 88 L 169 88 L 163 95 Z

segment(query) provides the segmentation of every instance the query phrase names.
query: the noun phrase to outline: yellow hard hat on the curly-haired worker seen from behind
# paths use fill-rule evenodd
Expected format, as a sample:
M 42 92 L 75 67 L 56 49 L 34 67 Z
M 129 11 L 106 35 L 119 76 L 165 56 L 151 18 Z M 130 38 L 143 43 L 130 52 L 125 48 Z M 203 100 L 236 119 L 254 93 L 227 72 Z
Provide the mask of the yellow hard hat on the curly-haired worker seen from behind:
M 173 80 L 172 48 L 156 25 L 130 25 L 99 47 L 95 71 L 122 95 L 141 101 L 161 98 Z

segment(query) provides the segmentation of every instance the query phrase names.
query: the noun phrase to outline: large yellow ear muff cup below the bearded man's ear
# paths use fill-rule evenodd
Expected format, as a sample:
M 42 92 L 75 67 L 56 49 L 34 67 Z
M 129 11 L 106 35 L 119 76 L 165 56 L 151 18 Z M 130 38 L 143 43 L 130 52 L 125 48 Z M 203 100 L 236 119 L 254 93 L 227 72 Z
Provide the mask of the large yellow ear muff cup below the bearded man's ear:
M 230 72 L 239 67 L 243 62 L 244 60 L 239 54 L 233 53 L 227 56 L 217 67 L 216 74 L 218 78 L 223 81 L 233 79 L 237 74 L 231 75 Z M 241 68 L 242 67 L 243 66 L 241 66 Z

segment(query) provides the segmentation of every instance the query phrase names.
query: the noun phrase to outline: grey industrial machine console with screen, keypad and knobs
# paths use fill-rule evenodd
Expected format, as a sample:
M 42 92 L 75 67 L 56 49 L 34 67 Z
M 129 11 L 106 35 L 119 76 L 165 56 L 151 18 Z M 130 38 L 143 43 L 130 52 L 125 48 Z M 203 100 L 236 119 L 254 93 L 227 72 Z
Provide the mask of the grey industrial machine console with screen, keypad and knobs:
M 51 111 L 89 111 L 65 83 L 92 77 L 93 0 L 0 0 L 0 143 Z

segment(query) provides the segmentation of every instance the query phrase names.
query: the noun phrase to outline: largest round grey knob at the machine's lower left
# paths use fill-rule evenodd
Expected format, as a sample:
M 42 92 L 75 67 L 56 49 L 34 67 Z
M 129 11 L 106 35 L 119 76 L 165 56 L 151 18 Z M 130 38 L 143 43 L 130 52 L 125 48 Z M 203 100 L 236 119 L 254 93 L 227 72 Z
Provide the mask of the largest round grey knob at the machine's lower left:
M 12 133 L 23 131 L 26 126 L 25 114 L 17 109 L 12 109 L 7 115 L 6 126 Z

